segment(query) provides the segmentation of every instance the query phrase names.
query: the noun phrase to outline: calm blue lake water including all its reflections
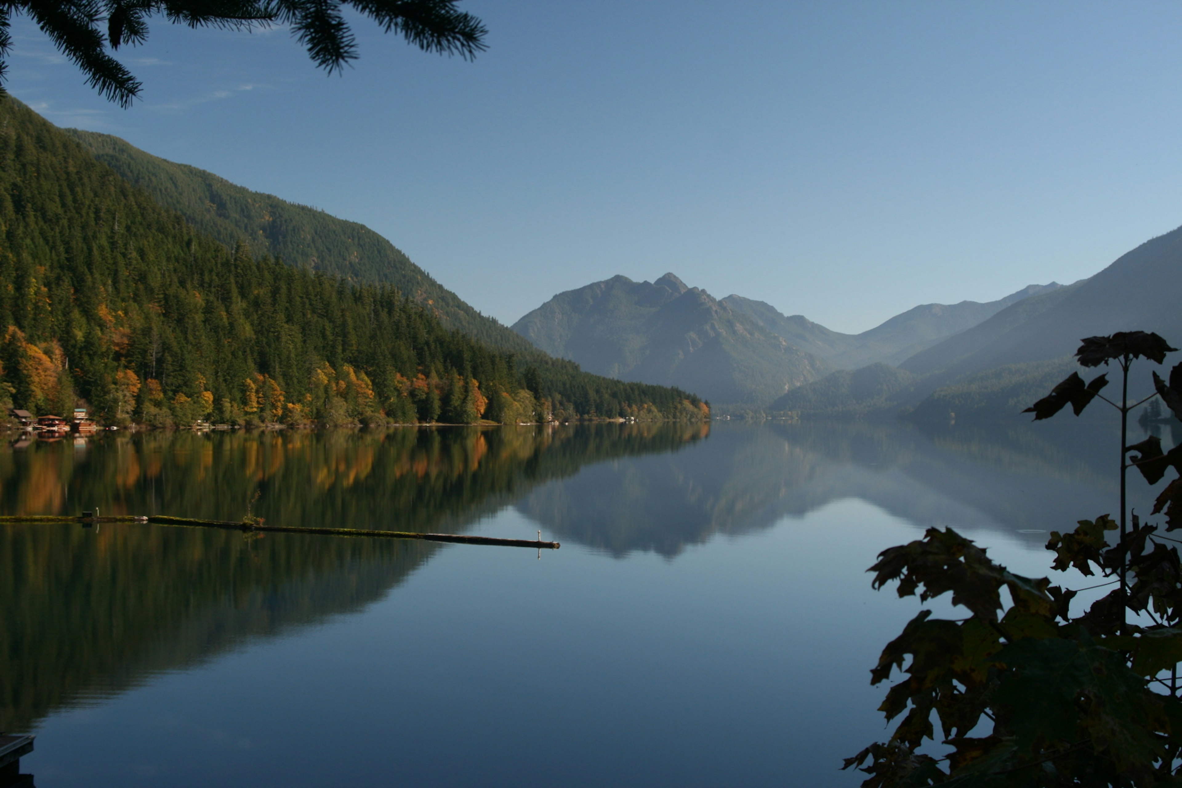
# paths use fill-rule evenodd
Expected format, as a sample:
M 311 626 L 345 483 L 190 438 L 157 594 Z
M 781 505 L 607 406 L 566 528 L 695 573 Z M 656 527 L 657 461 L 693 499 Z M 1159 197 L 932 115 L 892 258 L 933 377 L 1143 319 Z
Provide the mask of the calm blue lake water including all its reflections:
M 952 526 L 1045 575 L 1046 532 L 1115 512 L 1116 443 L 1069 417 L 18 442 L 2 514 L 563 547 L 0 525 L 0 730 L 38 734 L 40 788 L 855 786 L 869 669 L 920 610 L 870 588 L 876 554 Z

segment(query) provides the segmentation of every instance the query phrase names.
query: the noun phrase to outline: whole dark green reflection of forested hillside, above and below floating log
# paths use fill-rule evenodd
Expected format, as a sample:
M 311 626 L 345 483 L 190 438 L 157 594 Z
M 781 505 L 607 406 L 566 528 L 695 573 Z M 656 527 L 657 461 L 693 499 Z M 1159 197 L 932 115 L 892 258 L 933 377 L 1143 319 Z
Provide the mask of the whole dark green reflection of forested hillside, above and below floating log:
M 0 451 L 4 514 L 184 514 L 463 530 L 597 460 L 702 428 L 148 434 Z M 0 526 L 0 730 L 357 610 L 441 546 L 136 525 Z

